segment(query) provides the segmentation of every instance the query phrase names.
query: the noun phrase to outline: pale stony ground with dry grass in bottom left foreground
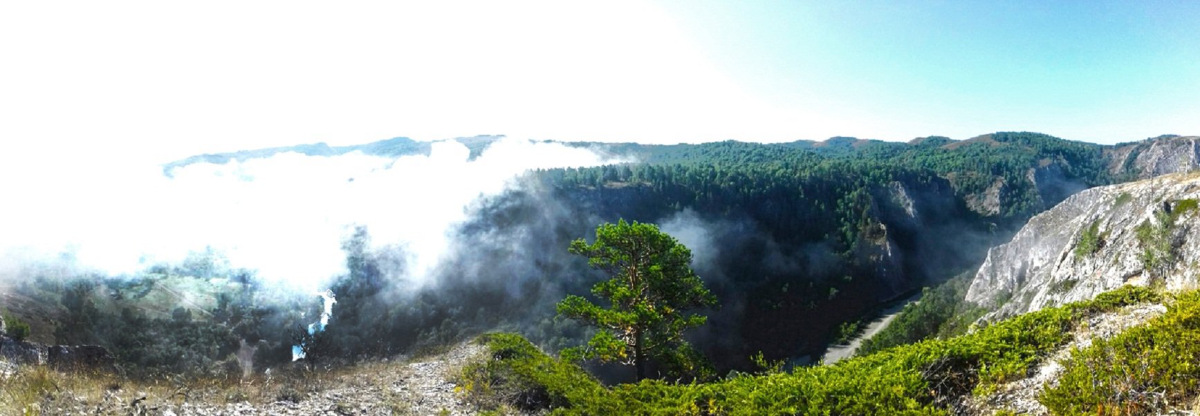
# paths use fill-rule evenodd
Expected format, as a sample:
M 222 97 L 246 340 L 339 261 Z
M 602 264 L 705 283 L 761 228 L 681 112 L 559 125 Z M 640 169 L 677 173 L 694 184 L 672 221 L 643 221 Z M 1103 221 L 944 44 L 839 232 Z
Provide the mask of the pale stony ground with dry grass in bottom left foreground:
M 49 415 L 473 415 L 454 380 L 461 366 L 484 351 L 482 345 L 462 343 L 424 357 L 299 378 L 268 374 L 233 386 L 113 382 L 97 393 L 52 380 L 59 391 L 40 408 Z

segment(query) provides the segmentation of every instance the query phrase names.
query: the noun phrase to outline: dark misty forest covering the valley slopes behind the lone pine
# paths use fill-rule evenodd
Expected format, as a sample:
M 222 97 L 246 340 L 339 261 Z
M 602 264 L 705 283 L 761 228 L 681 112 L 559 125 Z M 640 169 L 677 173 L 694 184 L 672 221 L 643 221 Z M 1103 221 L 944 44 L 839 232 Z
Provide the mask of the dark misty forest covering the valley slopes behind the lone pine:
M 462 143 L 474 157 L 492 140 Z M 690 340 L 724 374 L 754 369 L 751 356 L 760 352 L 760 360 L 808 362 L 846 322 L 972 271 L 988 247 L 1031 216 L 1080 189 L 1141 175 L 1129 162 L 1136 150 L 1038 133 L 962 141 L 570 145 L 630 162 L 529 171 L 521 186 L 476 201 L 455 231 L 466 249 L 443 260 L 436 284 L 415 291 L 388 278 L 386 270 L 404 266 L 404 247 L 371 249 L 371 230 L 359 228 L 342 246 L 348 272 L 330 288 L 337 303 L 328 330 L 308 331 L 308 338 L 304 327 L 320 314 L 320 297 L 282 296 L 253 271 L 222 269 L 220 259 L 203 255 L 149 270 L 142 281 L 46 273 L 23 290 L 59 311 L 56 342 L 101 344 L 146 372 L 230 370 L 232 355 L 247 346 L 256 348 L 256 367 L 266 368 L 289 362 L 301 340 L 318 346 L 310 361 L 389 356 L 497 328 L 559 351 L 592 332 L 556 318 L 554 302 L 586 295 L 598 279 L 568 243 L 625 218 L 660 224 L 696 253 L 694 269 L 721 307 L 704 311 L 708 325 Z M 167 164 L 164 173 L 283 151 L 428 151 L 407 139 L 302 147 L 203 155 Z M 134 307 L 156 279 L 185 277 L 220 277 L 223 285 L 203 305 L 158 313 Z M 938 294 L 953 303 L 953 288 Z M 940 302 L 928 303 L 940 308 L 934 314 L 953 311 Z

